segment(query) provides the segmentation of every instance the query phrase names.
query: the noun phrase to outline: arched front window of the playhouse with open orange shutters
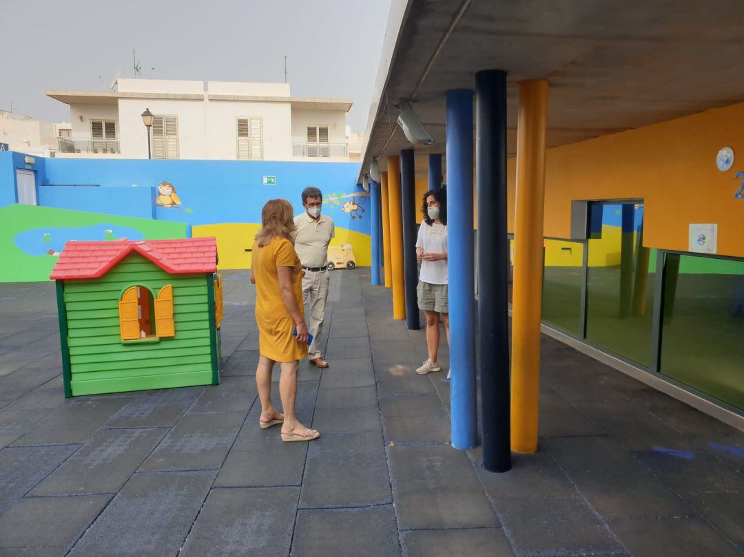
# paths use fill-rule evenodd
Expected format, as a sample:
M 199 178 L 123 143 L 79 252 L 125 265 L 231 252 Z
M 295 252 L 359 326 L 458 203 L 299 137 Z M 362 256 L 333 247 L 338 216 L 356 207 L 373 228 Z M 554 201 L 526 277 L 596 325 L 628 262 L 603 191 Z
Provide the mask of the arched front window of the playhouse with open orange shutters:
M 164 286 L 158 297 L 144 286 L 130 286 L 119 302 L 119 324 L 122 341 L 172 337 L 173 285 Z

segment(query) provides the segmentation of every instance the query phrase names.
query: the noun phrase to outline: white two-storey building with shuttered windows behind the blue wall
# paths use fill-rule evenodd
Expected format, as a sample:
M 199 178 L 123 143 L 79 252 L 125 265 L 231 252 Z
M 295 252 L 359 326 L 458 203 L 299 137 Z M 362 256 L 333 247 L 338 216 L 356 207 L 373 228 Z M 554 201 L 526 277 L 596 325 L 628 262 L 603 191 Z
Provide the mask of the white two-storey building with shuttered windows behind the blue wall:
M 147 158 L 149 144 L 152 158 L 359 158 L 351 100 L 292 97 L 286 83 L 119 79 L 115 91 L 47 95 L 70 106 L 58 157 Z M 145 109 L 155 115 L 149 141 Z

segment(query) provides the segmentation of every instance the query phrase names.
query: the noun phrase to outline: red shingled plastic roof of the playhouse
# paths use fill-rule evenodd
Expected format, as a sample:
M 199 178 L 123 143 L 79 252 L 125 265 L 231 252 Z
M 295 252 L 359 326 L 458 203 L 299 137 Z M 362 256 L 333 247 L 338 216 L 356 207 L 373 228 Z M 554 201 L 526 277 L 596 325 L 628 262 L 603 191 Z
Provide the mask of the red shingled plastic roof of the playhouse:
M 49 278 L 100 278 L 131 253 L 147 257 L 171 274 L 217 271 L 217 240 L 214 238 L 71 241 L 65 244 Z

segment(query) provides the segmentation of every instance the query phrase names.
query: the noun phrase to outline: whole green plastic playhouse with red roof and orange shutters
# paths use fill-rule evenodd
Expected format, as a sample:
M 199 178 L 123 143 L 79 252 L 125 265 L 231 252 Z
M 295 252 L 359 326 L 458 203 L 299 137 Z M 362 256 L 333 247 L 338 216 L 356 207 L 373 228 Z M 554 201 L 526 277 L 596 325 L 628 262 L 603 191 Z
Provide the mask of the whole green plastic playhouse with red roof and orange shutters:
M 54 266 L 65 396 L 219 384 L 214 238 L 68 242 Z

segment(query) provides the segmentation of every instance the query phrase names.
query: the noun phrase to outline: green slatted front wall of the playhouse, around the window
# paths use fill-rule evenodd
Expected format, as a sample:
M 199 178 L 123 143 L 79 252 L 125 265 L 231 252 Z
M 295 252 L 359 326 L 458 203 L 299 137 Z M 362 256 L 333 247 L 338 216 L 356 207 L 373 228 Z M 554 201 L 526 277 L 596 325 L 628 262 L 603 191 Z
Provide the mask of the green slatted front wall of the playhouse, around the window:
M 134 284 L 150 287 L 155 295 L 173 284 L 175 337 L 122 344 L 118 302 Z M 64 297 L 73 395 L 212 383 L 205 274 L 167 274 L 130 254 L 105 277 L 65 281 Z

